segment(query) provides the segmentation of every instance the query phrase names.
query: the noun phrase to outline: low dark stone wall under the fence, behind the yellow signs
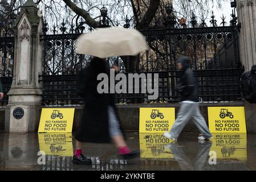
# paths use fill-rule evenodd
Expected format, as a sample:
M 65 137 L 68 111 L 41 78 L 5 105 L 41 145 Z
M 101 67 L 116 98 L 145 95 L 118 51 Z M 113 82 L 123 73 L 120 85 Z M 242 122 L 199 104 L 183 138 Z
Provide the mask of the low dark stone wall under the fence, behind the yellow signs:
M 217 103 L 217 104 L 201 104 L 200 110 L 202 115 L 204 116 L 206 122 L 208 122 L 208 106 L 246 106 L 246 127 L 248 133 L 256 133 L 256 117 L 255 117 L 255 107 L 246 102 L 233 102 L 233 103 Z M 140 107 L 175 107 L 175 113 L 177 117 L 178 109 L 180 108 L 180 104 L 161 104 L 161 105 L 118 105 L 117 111 L 120 117 L 121 127 L 124 131 L 139 131 L 139 113 Z M 67 108 L 67 107 L 65 107 Z M 74 108 L 74 107 L 72 107 Z M 39 109 L 39 118 L 42 109 Z M 79 122 L 82 119 L 83 115 L 83 107 L 77 106 L 75 107 L 75 117 L 73 124 L 73 131 L 75 132 L 79 126 Z M 35 123 L 36 130 L 38 130 L 39 126 L 39 118 L 38 121 L 33 121 L 30 123 Z M 5 109 L 0 109 L 0 131 L 5 129 Z M 190 121 L 188 125 L 184 128 L 184 131 L 197 130 L 194 124 Z

